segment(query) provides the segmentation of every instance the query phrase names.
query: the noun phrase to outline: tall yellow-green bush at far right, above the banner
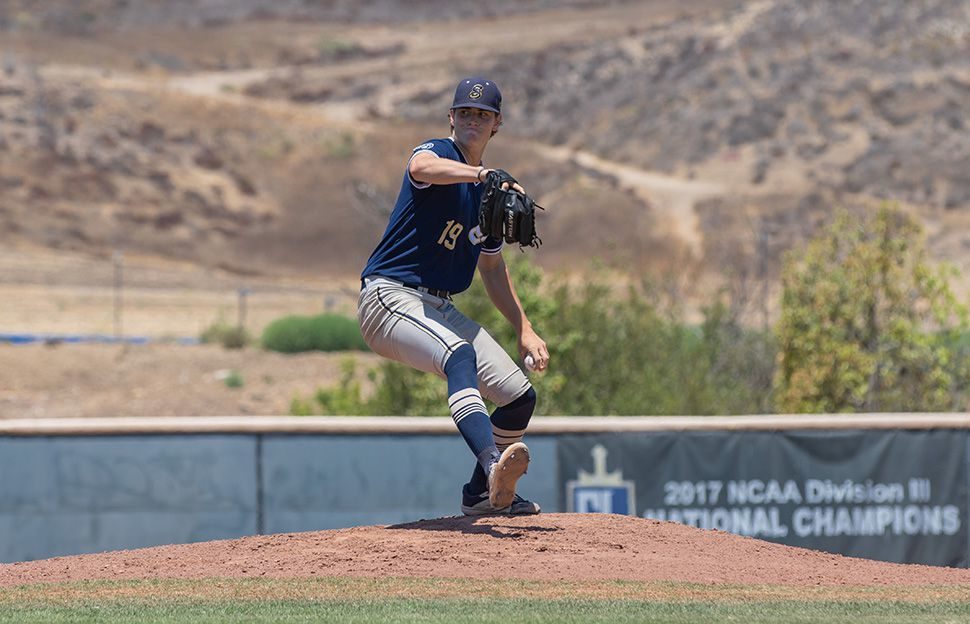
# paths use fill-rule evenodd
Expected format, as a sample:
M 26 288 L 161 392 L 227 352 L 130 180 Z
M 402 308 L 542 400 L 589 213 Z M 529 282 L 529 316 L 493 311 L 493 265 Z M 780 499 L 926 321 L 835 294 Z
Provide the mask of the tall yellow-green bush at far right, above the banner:
M 778 407 L 962 411 L 967 310 L 929 263 L 922 226 L 886 205 L 841 212 L 782 275 Z

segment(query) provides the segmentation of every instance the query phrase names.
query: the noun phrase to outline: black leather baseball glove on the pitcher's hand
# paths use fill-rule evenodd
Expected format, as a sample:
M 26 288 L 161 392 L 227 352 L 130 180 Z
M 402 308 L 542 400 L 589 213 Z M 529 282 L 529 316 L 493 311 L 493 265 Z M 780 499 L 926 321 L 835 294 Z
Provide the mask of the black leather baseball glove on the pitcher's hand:
M 520 247 L 538 247 L 542 239 L 536 234 L 536 208 L 545 210 L 531 197 L 513 190 L 516 180 L 507 171 L 493 169 L 485 176 L 478 222 L 482 233 Z M 509 188 L 502 185 L 508 183 Z

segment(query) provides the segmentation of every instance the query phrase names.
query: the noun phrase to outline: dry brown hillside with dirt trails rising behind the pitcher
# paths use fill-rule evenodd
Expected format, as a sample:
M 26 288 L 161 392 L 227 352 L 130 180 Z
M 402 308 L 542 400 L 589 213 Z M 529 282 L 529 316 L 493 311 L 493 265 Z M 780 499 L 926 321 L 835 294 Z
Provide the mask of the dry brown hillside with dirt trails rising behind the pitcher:
M 482 72 L 548 268 L 774 283 L 835 207 L 892 200 L 970 269 L 959 0 L 8 1 L 0 32 L 7 245 L 351 279 Z

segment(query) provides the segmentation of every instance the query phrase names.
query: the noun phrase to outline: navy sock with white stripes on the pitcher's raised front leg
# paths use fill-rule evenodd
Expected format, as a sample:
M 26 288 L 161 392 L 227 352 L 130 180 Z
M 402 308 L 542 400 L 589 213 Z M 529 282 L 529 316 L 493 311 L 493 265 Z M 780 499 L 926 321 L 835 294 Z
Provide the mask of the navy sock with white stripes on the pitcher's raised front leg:
M 485 401 L 478 391 L 478 365 L 470 344 L 458 347 L 445 364 L 448 377 L 448 407 L 461 437 L 471 449 L 480 470 L 487 469 L 499 456 L 492 436 Z

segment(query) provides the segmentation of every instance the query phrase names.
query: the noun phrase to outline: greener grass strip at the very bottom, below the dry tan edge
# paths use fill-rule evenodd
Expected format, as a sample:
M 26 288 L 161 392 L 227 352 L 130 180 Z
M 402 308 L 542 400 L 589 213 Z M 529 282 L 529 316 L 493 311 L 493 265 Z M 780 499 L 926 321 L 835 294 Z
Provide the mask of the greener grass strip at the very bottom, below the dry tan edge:
M 0 622 L 767 622 L 895 624 L 966 622 L 966 603 L 647 602 L 632 600 L 120 601 L 8 605 Z

